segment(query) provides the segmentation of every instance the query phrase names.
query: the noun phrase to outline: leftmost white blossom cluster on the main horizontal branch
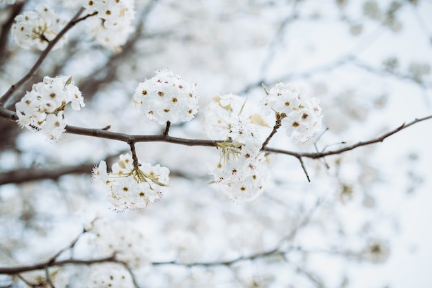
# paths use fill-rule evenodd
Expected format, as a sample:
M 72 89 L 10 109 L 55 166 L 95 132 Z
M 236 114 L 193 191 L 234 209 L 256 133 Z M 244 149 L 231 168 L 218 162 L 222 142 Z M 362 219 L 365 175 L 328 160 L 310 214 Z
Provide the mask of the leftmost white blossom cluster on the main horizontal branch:
M 19 118 L 17 123 L 40 131 L 51 140 L 59 140 L 66 127 L 63 112 L 68 103 L 75 111 L 85 106 L 81 91 L 74 85 L 72 77 L 46 76 L 15 104 Z

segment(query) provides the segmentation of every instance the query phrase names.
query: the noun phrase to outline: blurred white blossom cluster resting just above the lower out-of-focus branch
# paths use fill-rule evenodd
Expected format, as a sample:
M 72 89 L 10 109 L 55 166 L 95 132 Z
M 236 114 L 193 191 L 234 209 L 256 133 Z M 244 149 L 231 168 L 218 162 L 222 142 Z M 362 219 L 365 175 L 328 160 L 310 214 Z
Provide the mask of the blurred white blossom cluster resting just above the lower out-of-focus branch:
M 97 219 L 88 229 L 88 234 L 96 258 L 115 255 L 117 260 L 133 269 L 148 265 L 150 247 L 144 235 L 132 225 Z

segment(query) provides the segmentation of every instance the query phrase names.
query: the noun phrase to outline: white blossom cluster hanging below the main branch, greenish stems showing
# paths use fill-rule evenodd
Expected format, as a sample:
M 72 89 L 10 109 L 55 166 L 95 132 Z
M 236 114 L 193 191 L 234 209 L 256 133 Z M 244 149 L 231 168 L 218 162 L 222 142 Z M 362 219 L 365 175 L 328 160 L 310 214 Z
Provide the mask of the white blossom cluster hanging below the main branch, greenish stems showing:
M 95 182 L 104 185 L 108 201 L 115 211 L 141 209 L 159 200 L 169 186 L 168 168 L 159 164 L 134 164 L 130 154 L 120 155 L 120 160 L 107 172 L 106 162 L 93 169 Z

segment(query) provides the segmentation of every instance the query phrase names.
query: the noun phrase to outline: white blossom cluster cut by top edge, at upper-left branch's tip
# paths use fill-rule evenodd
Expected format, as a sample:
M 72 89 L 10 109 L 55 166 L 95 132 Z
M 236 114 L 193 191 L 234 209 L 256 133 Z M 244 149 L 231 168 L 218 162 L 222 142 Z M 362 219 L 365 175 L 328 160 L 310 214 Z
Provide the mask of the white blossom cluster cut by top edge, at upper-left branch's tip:
M 133 31 L 133 0 L 83 0 L 82 6 L 88 14 L 97 13 L 90 18 L 89 29 L 96 41 L 119 52 Z

